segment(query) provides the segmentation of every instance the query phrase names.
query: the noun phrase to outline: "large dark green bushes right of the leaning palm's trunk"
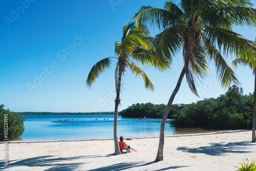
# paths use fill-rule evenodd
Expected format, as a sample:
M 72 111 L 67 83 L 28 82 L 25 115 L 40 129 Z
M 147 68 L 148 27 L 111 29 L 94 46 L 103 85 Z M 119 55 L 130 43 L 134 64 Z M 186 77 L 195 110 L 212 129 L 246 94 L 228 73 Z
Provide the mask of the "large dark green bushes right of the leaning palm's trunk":
M 232 86 L 218 98 L 191 103 L 173 115 L 171 124 L 182 127 L 206 127 L 215 130 L 251 129 L 253 94 Z

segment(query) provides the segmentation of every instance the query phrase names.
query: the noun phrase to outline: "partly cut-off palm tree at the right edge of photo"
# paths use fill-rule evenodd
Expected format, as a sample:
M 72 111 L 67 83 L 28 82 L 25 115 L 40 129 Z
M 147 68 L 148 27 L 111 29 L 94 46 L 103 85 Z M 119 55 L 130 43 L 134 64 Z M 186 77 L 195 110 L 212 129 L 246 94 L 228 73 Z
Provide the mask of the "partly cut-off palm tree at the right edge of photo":
M 255 128 L 256 128 L 256 60 L 249 61 L 248 59 L 237 58 L 232 62 L 233 67 L 236 69 L 238 65 L 249 65 L 254 74 L 254 99 L 253 99 L 253 114 L 252 114 L 252 142 L 256 142 Z

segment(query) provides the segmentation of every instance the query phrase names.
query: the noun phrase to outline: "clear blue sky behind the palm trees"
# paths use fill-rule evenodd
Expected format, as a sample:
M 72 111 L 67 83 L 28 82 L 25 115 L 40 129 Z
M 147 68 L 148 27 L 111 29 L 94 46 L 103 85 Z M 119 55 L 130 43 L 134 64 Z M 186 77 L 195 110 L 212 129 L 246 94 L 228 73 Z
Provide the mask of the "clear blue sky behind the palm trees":
M 114 43 L 121 39 L 123 24 L 130 22 L 141 6 L 162 8 L 164 2 L 3 1 L 0 7 L 0 104 L 14 112 L 114 111 L 114 67 L 99 76 L 92 90 L 84 84 L 88 73 L 97 61 L 115 55 Z M 255 29 L 236 31 L 255 39 Z M 227 61 L 230 63 L 232 59 Z M 142 78 L 125 73 L 119 111 L 134 103 L 166 104 L 182 66 L 182 56 L 178 54 L 169 73 L 146 68 L 155 92 L 144 89 Z M 183 79 L 174 103 L 191 103 L 225 93 L 215 77 L 214 66 L 209 67 L 210 75 L 202 83 L 198 81 L 201 98 L 189 91 Z M 252 93 L 252 71 L 239 67 L 235 72 L 244 93 Z

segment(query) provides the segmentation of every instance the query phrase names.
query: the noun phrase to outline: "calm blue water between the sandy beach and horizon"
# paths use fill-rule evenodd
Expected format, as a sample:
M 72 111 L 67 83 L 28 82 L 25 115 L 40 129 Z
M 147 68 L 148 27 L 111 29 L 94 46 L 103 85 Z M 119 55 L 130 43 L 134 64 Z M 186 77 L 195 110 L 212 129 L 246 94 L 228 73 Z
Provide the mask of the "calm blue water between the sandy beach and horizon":
M 24 115 L 24 119 L 21 138 L 25 141 L 113 138 L 114 115 Z M 65 119 L 71 121 L 60 121 Z M 161 119 L 118 116 L 117 124 L 118 137 L 159 136 Z M 173 134 L 176 134 L 175 127 L 166 122 L 165 135 Z

